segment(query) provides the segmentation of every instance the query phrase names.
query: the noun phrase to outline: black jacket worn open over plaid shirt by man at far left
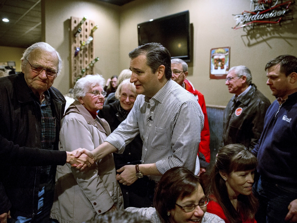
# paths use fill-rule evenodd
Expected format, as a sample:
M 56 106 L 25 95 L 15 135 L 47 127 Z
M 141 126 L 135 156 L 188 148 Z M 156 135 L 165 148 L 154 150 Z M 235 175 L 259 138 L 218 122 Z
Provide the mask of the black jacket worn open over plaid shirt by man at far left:
M 50 87 L 48 91 L 56 121 L 54 150 L 58 150 L 66 100 L 56 88 Z M 41 147 L 40 102 L 28 87 L 23 73 L 0 78 L 0 123 L 1 136 L 15 145 Z M 41 167 L 1 167 L 0 213 L 10 209 L 14 216 L 33 218 L 37 214 L 40 170 Z M 55 170 L 56 166 L 52 166 L 53 177 Z

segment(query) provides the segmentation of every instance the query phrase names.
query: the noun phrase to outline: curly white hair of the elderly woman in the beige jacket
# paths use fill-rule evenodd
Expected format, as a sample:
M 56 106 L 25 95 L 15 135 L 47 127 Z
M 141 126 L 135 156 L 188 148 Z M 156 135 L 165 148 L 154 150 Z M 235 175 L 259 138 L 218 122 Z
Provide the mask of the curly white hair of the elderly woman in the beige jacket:
M 76 81 L 75 86 L 73 88 L 73 98 L 78 100 L 86 95 L 90 88 L 95 86 L 104 86 L 105 79 L 99 75 L 87 75 L 83 78 L 80 78 Z

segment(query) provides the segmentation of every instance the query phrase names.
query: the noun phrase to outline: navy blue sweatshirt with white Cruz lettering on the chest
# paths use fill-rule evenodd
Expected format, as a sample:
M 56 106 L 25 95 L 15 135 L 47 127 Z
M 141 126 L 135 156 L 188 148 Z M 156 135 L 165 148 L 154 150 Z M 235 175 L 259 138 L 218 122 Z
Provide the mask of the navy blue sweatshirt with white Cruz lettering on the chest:
M 275 100 L 264 119 L 264 130 L 252 150 L 261 176 L 297 187 L 297 92 L 279 106 Z

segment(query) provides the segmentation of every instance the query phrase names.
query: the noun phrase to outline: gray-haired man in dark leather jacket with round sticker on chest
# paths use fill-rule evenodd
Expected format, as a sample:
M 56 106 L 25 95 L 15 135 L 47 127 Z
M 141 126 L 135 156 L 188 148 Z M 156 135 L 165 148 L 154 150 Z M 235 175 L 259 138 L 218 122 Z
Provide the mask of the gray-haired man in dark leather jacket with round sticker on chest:
M 224 111 L 221 147 L 241 143 L 251 151 L 263 131 L 270 101 L 252 84 L 252 75 L 246 66 L 231 67 L 225 84 L 235 95 Z

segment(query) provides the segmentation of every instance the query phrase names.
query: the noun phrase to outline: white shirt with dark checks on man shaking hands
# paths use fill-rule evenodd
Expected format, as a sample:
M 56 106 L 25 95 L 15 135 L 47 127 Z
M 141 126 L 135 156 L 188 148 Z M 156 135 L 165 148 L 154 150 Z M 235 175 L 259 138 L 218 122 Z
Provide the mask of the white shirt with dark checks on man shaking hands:
M 140 133 L 142 163 L 164 174 L 183 166 L 194 172 L 204 115 L 194 95 L 169 80 L 152 98 L 138 95 L 128 117 L 105 141 L 124 151 Z M 159 181 L 159 176 L 149 176 Z

